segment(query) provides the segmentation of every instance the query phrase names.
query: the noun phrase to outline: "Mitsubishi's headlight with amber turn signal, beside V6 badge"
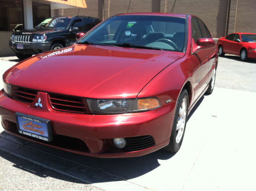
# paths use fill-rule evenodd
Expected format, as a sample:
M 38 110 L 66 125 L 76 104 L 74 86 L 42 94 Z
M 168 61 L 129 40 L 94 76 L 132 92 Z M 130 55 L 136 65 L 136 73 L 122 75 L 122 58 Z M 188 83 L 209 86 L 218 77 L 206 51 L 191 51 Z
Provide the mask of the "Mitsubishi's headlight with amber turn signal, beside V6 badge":
M 144 99 L 86 99 L 92 114 L 117 114 L 148 111 L 161 106 L 157 98 Z

